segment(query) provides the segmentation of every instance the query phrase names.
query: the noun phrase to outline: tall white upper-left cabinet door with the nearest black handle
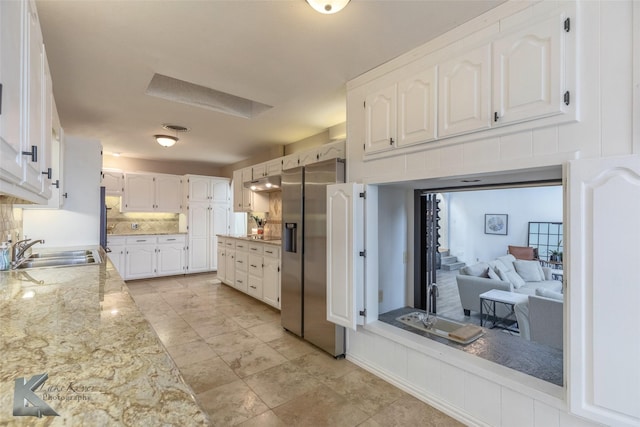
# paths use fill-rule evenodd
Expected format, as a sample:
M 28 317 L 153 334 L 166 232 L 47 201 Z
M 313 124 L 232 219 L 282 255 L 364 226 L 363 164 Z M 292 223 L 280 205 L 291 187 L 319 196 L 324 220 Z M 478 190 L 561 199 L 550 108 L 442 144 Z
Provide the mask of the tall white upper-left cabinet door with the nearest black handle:
M 31 191 L 42 191 L 42 155 L 43 153 L 43 90 L 44 90 L 44 45 L 40 32 L 40 21 L 32 2 L 27 2 L 27 138 L 23 151 L 35 151 L 35 156 L 26 156 L 23 186 Z

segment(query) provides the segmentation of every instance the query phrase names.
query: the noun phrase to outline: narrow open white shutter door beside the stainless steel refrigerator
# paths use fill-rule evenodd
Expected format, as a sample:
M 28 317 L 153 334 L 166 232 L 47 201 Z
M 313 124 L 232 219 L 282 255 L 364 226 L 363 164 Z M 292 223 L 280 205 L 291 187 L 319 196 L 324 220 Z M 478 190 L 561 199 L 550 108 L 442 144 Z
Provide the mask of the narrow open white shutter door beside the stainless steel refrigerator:
M 327 187 L 327 320 L 346 328 L 364 311 L 364 203 L 362 184 Z

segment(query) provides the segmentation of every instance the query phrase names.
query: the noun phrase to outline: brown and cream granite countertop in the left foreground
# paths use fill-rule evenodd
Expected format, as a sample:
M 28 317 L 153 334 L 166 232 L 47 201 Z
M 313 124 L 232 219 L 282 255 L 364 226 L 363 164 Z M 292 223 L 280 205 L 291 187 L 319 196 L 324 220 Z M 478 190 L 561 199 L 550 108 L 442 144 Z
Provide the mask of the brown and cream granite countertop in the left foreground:
M 209 424 L 109 261 L 0 272 L 0 322 L 0 425 Z M 58 416 L 14 416 L 41 374 Z

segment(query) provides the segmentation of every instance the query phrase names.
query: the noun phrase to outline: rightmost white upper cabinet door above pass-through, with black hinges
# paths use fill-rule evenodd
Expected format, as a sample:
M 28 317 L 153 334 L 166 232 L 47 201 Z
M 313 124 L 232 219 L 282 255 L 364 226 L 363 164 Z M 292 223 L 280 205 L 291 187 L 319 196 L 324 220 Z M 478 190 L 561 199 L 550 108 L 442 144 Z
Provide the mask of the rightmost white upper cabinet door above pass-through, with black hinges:
M 494 125 L 563 112 L 564 17 L 493 43 Z

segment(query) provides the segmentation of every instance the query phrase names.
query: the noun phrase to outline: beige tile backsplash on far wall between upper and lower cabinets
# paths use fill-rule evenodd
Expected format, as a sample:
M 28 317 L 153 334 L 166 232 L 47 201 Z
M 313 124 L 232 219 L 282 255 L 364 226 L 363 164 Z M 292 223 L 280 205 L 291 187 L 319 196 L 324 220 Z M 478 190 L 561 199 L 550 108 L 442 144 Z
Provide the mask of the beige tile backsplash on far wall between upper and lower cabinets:
M 106 197 L 109 234 L 175 234 L 179 232 L 179 214 L 120 212 L 120 200 L 120 197 Z M 132 225 L 137 228 L 133 228 Z

